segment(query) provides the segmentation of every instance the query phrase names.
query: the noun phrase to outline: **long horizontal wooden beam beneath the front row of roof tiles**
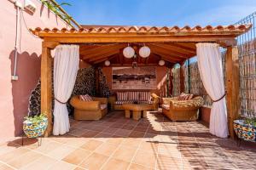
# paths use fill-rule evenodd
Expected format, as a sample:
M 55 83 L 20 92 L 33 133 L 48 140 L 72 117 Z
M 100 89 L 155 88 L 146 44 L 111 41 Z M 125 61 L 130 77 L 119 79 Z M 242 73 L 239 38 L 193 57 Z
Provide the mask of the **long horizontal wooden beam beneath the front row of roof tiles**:
M 83 34 L 65 35 L 60 37 L 58 34 L 53 34 L 53 37 L 44 37 L 45 41 L 57 41 L 61 43 L 106 43 L 106 42 L 218 42 L 221 40 L 232 40 L 235 39 L 234 35 L 194 35 L 194 36 L 170 36 L 170 35 L 88 35 L 87 37 Z M 65 37 L 66 36 L 66 37 Z

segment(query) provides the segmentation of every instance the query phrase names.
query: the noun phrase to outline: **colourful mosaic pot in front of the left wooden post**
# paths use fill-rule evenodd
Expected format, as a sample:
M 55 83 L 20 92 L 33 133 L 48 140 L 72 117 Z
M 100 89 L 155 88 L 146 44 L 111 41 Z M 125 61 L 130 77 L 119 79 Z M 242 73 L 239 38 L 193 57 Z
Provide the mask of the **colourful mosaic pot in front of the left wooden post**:
M 27 138 L 38 138 L 44 134 L 47 125 L 47 118 L 43 118 L 39 122 L 30 122 L 26 120 L 23 122 L 23 131 Z

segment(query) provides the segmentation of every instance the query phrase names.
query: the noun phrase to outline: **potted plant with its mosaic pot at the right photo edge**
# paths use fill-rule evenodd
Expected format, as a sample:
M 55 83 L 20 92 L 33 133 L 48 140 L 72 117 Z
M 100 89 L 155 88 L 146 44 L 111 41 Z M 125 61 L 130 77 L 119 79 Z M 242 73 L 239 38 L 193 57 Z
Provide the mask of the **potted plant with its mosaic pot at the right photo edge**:
M 239 139 L 256 142 L 256 117 L 235 120 L 234 130 Z

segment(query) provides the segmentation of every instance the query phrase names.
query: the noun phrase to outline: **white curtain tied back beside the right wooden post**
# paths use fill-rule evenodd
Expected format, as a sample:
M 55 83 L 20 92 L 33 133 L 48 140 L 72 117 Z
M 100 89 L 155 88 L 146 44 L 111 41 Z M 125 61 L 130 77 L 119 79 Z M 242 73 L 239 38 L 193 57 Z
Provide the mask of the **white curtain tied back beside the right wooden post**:
M 222 58 L 217 43 L 201 42 L 196 44 L 198 67 L 201 80 L 212 100 L 218 100 L 212 104 L 210 116 L 210 133 L 227 138 L 228 122 L 227 109 L 224 96 L 224 73 Z

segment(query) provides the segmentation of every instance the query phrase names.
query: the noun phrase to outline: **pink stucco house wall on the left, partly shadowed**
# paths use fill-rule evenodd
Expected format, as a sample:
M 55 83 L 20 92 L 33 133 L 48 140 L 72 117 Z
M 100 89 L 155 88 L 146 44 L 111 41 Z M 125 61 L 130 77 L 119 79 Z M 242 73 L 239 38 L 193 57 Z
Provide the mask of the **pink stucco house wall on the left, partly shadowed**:
M 24 3 L 24 0 L 20 0 Z M 18 44 L 17 75 L 12 81 L 15 56 L 16 8 L 14 3 L 2 0 L 0 5 L 0 143 L 20 135 L 23 117 L 27 114 L 28 99 L 40 77 L 42 41 L 27 31 L 31 27 L 67 27 L 38 0 L 35 14 L 25 11 L 20 15 L 20 41 Z

